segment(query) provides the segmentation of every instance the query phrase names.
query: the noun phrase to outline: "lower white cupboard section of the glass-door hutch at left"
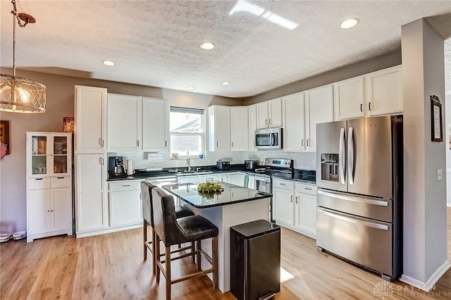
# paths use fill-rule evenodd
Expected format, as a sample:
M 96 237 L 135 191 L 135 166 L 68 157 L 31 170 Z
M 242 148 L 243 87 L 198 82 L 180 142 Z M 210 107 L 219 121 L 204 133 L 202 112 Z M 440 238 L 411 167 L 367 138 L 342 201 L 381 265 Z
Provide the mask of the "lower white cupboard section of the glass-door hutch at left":
M 70 177 L 69 180 L 58 178 L 68 185 L 52 187 L 49 180 L 39 177 L 28 180 L 27 242 L 40 237 L 72 235 L 72 184 Z

